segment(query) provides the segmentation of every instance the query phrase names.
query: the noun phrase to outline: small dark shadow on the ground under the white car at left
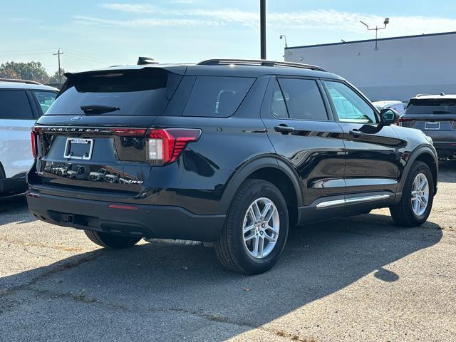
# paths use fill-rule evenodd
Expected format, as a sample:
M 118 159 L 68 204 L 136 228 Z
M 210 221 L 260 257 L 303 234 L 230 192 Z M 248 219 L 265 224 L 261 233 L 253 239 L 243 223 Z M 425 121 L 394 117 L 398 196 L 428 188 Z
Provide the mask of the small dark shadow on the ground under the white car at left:
M 0 197 L 0 226 L 11 222 L 28 223 L 35 220 L 35 217 L 28 212 L 25 195 Z

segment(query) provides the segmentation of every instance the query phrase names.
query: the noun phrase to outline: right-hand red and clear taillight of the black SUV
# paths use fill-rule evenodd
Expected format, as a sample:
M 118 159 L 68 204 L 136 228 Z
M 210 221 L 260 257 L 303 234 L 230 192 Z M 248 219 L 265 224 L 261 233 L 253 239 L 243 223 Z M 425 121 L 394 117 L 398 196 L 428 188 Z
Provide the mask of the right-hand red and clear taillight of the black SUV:
M 189 142 L 197 141 L 201 130 L 191 128 L 166 128 L 148 130 L 147 159 L 152 165 L 174 162 Z

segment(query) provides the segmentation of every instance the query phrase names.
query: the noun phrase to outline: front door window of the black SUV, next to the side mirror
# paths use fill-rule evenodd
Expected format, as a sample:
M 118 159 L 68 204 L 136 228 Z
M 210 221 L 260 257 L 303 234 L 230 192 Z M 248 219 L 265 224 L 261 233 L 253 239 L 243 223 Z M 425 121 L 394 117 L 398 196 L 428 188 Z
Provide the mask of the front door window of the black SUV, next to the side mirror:
M 376 123 L 375 112 L 360 95 L 340 82 L 326 81 L 336 113 L 342 122 Z

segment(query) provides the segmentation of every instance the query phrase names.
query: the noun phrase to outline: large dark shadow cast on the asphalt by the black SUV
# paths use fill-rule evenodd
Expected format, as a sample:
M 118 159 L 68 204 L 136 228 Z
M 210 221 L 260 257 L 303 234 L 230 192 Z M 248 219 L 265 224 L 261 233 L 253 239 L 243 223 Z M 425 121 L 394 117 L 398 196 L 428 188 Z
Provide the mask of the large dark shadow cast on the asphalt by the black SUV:
M 403 275 L 388 270 L 388 264 L 437 244 L 441 238 L 440 227 L 432 222 L 403 229 L 380 214 L 309 224 L 292 229 L 279 263 L 257 276 L 224 271 L 213 250 L 204 247 L 142 244 L 118 251 L 98 250 L 60 261 L 76 266 L 48 271 L 33 281 L 34 291 L 67 296 L 74 307 L 63 316 L 41 308 L 41 315 L 30 318 L 32 330 L 37 333 L 49 320 L 56 321 L 57 326 L 78 324 L 75 312 L 83 310 L 80 306 L 90 310 L 104 305 L 118 310 L 119 322 L 132 313 L 141 319 L 153 318 L 156 321 L 149 326 L 142 326 L 138 319 L 136 328 L 155 334 L 159 341 L 176 341 L 182 336 L 187 336 L 187 341 L 197 340 L 195 327 L 188 326 L 188 319 L 183 318 L 187 316 L 203 321 L 198 324 L 227 324 L 231 328 L 225 326 L 211 335 L 211 341 L 222 341 L 333 294 L 364 276 L 394 283 Z M 81 257 L 90 261 L 80 263 L 77 260 Z M 46 268 L 53 267 L 40 271 L 46 274 Z M 0 279 L 0 287 L 2 283 L 14 283 L 16 277 L 24 274 Z M 158 328 L 160 315 L 167 315 L 166 330 Z M 27 329 L 21 322 L 27 319 L 4 322 L 24 333 Z M 84 334 L 96 334 L 97 327 L 81 326 Z M 123 328 L 123 323 L 110 325 L 110 330 L 119 334 Z M 58 339 L 67 333 L 53 331 L 53 337 Z

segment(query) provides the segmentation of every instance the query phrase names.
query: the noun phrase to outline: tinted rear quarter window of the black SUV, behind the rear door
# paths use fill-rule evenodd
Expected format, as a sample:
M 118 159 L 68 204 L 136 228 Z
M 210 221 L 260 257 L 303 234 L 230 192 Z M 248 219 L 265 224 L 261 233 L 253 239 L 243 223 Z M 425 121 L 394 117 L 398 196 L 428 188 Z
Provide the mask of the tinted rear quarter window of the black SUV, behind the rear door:
M 244 77 L 198 76 L 184 115 L 227 118 L 237 110 L 254 81 Z

